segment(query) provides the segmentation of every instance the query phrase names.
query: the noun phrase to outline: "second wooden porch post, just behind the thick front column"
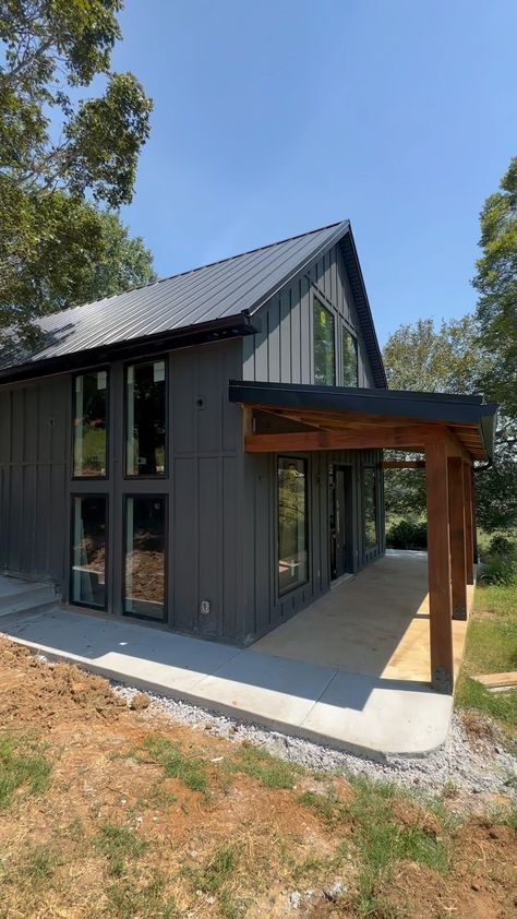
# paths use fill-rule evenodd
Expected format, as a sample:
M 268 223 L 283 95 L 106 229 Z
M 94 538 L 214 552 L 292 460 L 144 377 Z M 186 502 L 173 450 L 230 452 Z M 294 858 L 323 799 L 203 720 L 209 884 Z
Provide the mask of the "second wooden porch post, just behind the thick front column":
M 465 538 L 466 508 L 464 490 L 464 462 L 460 456 L 448 457 L 447 476 L 453 619 L 467 619 L 467 545 Z

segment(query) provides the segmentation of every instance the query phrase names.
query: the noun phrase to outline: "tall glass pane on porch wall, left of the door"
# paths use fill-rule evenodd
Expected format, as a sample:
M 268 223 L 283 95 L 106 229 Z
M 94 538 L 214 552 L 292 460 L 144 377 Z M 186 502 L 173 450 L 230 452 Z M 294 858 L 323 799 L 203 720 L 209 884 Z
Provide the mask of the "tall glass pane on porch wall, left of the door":
M 278 587 L 279 593 L 309 577 L 306 536 L 306 462 L 278 461 Z

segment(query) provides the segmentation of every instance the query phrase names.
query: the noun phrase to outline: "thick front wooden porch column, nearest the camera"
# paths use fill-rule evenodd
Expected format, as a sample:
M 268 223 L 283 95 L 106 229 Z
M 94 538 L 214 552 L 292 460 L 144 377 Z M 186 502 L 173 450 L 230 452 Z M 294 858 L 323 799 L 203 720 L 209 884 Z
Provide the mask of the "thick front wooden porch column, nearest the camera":
M 438 692 L 450 693 L 454 685 L 453 602 L 445 440 L 425 445 L 425 489 L 431 682 Z

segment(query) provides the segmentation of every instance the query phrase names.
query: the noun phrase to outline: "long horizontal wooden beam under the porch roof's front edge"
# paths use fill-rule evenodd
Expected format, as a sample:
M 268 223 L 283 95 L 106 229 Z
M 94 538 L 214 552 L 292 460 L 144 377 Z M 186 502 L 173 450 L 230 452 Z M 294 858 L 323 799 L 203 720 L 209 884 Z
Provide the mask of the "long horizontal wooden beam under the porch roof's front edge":
M 365 428 L 353 431 L 297 431 L 292 433 L 248 434 L 247 453 L 290 453 L 313 450 L 414 450 L 420 453 L 428 441 L 445 442 L 445 431 L 430 431 L 424 425 L 407 428 Z

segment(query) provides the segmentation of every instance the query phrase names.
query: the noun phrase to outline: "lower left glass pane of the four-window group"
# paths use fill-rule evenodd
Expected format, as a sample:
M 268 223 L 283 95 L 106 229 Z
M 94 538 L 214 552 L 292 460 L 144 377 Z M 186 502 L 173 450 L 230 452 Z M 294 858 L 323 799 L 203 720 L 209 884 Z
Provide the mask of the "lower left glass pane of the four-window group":
M 72 602 L 106 606 L 106 498 L 73 499 Z

